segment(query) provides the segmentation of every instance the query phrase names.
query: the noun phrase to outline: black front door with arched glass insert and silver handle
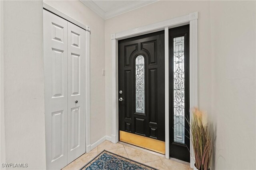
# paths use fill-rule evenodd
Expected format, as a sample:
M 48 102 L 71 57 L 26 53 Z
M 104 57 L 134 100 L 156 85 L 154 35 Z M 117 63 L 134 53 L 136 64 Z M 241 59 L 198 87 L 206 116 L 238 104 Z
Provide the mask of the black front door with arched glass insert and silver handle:
M 164 31 L 118 41 L 118 95 L 120 135 L 165 141 Z

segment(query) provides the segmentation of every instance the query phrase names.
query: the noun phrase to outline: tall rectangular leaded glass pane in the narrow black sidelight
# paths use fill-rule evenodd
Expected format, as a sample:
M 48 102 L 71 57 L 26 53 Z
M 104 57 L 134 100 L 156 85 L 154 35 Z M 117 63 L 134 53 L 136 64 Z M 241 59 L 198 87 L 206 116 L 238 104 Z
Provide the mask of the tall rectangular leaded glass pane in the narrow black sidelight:
M 184 36 L 173 39 L 174 142 L 185 144 Z

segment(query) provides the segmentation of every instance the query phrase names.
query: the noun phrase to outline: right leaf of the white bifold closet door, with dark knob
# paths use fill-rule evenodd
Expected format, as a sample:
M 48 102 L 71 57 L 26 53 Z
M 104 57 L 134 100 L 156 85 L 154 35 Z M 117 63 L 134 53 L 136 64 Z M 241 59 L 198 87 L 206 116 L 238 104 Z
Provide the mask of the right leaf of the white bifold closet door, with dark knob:
M 86 31 L 68 22 L 68 164 L 85 153 Z

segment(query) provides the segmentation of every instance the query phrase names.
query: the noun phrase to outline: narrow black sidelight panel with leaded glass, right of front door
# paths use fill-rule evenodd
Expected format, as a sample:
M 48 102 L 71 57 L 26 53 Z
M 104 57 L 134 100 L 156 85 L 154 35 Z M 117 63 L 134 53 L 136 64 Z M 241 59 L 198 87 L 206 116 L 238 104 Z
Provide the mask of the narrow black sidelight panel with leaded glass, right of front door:
M 189 25 L 169 29 L 170 157 L 190 162 Z

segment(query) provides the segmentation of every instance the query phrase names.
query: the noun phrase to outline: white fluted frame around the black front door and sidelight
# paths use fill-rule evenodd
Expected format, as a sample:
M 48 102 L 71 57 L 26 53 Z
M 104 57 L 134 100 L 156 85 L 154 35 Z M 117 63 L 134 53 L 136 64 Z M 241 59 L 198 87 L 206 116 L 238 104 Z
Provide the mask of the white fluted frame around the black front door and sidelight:
M 197 73 L 197 20 L 198 12 L 193 12 L 185 16 L 173 18 L 158 23 L 153 23 L 136 29 L 114 33 L 111 35 L 112 47 L 112 143 L 119 141 L 118 127 L 118 40 L 152 33 L 164 30 L 165 43 L 165 157 L 169 158 L 169 29 L 186 24 L 190 24 L 190 108 L 198 106 L 198 73 Z M 190 117 L 191 117 L 190 113 Z M 192 142 L 190 142 L 190 151 L 194 155 Z M 190 167 L 193 168 L 194 159 L 190 156 Z

